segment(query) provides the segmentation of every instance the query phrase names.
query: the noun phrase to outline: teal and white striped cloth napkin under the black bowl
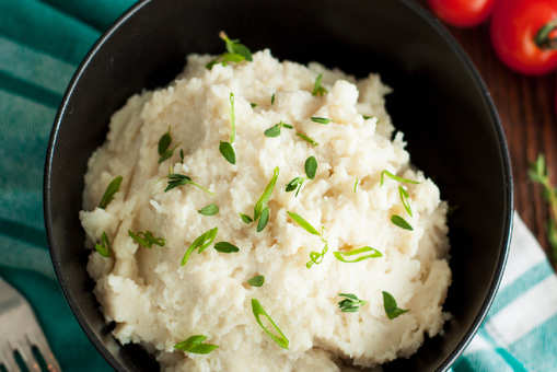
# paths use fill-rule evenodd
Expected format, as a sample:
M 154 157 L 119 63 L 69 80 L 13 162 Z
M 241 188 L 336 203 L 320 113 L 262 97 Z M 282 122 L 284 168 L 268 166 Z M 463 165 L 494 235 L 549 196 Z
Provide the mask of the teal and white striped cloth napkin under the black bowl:
M 0 0 L 0 276 L 30 300 L 65 371 L 112 369 L 71 314 L 48 257 L 46 146 L 73 71 L 134 2 Z M 518 217 L 501 289 L 452 369 L 557 371 L 557 277 Z

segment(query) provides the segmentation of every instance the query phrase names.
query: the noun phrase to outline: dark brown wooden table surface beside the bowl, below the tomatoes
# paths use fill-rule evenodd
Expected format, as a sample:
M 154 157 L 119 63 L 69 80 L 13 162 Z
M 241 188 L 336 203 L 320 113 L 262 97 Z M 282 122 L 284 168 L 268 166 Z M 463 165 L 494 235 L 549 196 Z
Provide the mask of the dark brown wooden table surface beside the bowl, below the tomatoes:
M 507 135 L 514 176 L 515 209 L 549 253 L 546 221 L 549 209 L 542 188 L 527 178 L 530 162 L 545 153 L 552 182 L 557 184 L 557 114 L 555 74 L 524 77 L 502 65 L 489 39 L 487 24 L 476 28 L 450 28 L 487 83 Z M 557 268 L 557 261 L 553 261 Z

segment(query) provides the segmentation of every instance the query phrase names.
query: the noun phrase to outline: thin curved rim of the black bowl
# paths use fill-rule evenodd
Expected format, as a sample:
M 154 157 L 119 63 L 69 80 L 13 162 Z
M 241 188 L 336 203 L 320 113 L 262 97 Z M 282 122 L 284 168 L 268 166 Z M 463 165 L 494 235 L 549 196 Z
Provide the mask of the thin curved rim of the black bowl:
M 48 139 L 48 148 L 46 152 L 46 160 L 44 166 L 44 183 L 43 183 L 43 213 L 45 219 L 46 226 L 46 235 L 48 249 L 50 253 L 50 259 L 53 261 L 53 266 L 56 272 L 56 277 L 60 283 L 62 289 L 63 297 L 68 302 L 73 315 L 76 316 L 81 329 L 85 333 L 89 340 L 93 344 L 96 350 L 103 356 L 103 358 L 118 372 L 129 372 L 124 365 L 121 365 L 114 354 L 108 351 L 108 349 L 101 342 L 101 339 L 95 336 L 93 330 L 89 327 L 89 324 L 83 315 L 80 305 L 77 301 L 70 295 L 68 290 L 68 280 L 65 278 L 62 274 L 62 268 L 60 266 L 60 259 L 57 251 L 54 248 L 53 242 L 53 214 L 51 214 L 51 171 L 53 171 L 53 162 L 54 162 L 54 153 L 56 150 L 56 144 L 58 143 L 58 133 L 60 126 L 63 121 L 65 114 L 68 108 L 68 104 L 73 96 L 76 88 L 79 84 L 79 81 L 92 59 L 95 57 L 97 51 L 103 47 L 103 45 L 112 37 L 114 33 L 116 33 L 123 24 L 125 24 L 130 18 L 132 18 L 137 12 L 139 12 L 143 7 L 153 2 L 154 0 L 141 0 L 135 5 L 130 7 L 126 10 L 95 42 L 95 44 L 88 51 L 76 72 L 73 73 L 68 88 L 63 94 L 63 98 L 60 103 L 58 112 L 55 117 L 55 121 L 53 125 L 53 129 L 50 131 L 50 137 Z M 494 129 L 497 135 L 499 148 L 498 153 L 502 161 L 502 175 L 506 181 L 506 188 L 502 190 L 507 198 L 504 199 L 503 210 L 504 210 L 504 225 L 500 242 L 500 252 L 497 260 L 496 269 L 491 276 L 491 282 L 489 284 L 489 289 L 486 298 L 484 299 L 484 303 L 479 312 L 476 314 L 474 321 L 472 322 L 471 327 L 467 329 L 464 337 L 459 341 L 455 348 L 445 357 L 445 359 L 440 363 L 438 371 L 446 371 L 454 361 L 463 353 L 466 346 L 471 342 L 472 338 L 476 335 L 479 326 L 483 324 L 491 303 L 494 302 L 495 295 L 497 294 L 497 290 L 501 282 L 501 278 L 504 271 L 504 266 L 507 263 L 509 246 L 511 242 L 512 235 L 512 225 L 513 225 L 513 178 L 512 178 L 512 167 L 511 160 L 509 154 L 509 148 L 507 144 L 507 139 L 504 137 L 503 128 L 501 126 L 501 120 L 499 118 L 499 114 L 497 108 L 492 102 L 491 94 L 489 93 L 486 83 L 484 82 L 481 75 L 476 69 L 475 65 L 472 62 L 467 54 L 461 47 L 459 42 L 454 38 L 454 36 L 449 32 L 449 30 L 438 20 L 436 19 L 429 10 L 420 5 L 418 2 L 413 0 L 397 0 L 399 3 L 405 5 L 408 10 L 416 13 L 418 18 L 421 18 L 426 23 L 433 28 L 433 31 L 441 36 L 441 38 L 448 44 L 450 49 L 455 54 L 455 56 L 464 63 L 465 68 L 469 71 L 471 77 L 479 91 L 481 92 L 481 100 L 486 105 L 490 116 L 491 121 L 494 123 Z

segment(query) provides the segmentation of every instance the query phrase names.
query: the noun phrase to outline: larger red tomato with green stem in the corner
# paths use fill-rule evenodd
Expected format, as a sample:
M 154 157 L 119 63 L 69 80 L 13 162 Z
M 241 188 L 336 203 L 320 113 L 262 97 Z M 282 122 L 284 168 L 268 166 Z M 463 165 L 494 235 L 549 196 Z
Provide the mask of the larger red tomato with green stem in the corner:
M 557 68 L 556 27 L 556 0 L 501 0 L 491 19 L 491 43 L 511 69 L 543 74 Z

